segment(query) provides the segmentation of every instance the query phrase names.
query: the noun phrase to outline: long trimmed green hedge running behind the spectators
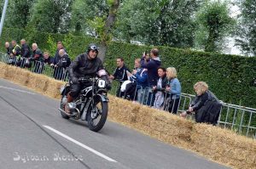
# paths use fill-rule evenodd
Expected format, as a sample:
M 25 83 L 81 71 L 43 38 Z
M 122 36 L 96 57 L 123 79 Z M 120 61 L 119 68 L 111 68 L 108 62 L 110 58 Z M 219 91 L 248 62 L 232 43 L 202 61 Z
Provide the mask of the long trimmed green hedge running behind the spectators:
M 49 38 L 50 37 L 50 38 Z M 70 34 L 49 34 L 44 32 L 4 29 L 0 40 L 0 49 L 4 51 L 4 42 L 11 39 L 26 38 L 29 44 L 38 42 L 38 47 L 55 50 L 55 42 L 63 41 L 71 58 L 84 52 L 90 42 L 98 42 L 92 37 L 76 37 Z M 49 39 L 51 41 L 49 41 Z M 145 50 L 152 47 L 137 46 L 121 42 L 110 42 L 104 61 L 108 71 L 113 72 L 115 59 L 123 57 L 126 65 L 133 68 L 134 59 L 140 58 Z M 218 99 L 226 103 L 241 104 L 256 108 L 256 58 L 237 55 L 212 54 L 178 48 L 160 48 L 160 59 L 165 67 L 177 68 L 178 79 L 182 83 L 183 93 L 194 93 L 193 85 L 198 81 L 209 84 Z

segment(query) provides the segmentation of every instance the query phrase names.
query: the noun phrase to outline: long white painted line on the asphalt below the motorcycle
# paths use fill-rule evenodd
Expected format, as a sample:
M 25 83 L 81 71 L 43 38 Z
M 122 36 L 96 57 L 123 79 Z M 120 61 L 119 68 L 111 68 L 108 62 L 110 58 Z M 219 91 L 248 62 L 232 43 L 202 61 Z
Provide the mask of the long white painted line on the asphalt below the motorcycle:
M 50 131 L 52 132 L 55 132 L 56 134 L 60 135 L 61 137 L 63 138 L 67 138 L 69 141 L 73 142 L 74 144 L 78 144 L 79 146 L 83 147 L 84 149 L 87 149 L 89 150 L 90 152 L 96 154 L 96 155 L 99 155 L 101 156 L 103 159 L 107 160 L 107 161 L 111 161 L 111 162 L 117 162 L 115 160 L 113 160 L 112 158 L 108 157 L 107 155 L 103 155 L 102 153 L 96 151 L 95 149 L 92 149 L 90 147 L 88 147 L 87 145 L 84 145 L 82 143 L 80 143 L 79 141 L 73 139 L 73 138 L 70 138 L 68 137 L 66 134 L 62 133 L 62 132 L 59 132 L 57 130 L 55 130 L 54 128 L 52 127 L 49 127 L 49 126 L 44 126 L 45 128 L 49 129 Z

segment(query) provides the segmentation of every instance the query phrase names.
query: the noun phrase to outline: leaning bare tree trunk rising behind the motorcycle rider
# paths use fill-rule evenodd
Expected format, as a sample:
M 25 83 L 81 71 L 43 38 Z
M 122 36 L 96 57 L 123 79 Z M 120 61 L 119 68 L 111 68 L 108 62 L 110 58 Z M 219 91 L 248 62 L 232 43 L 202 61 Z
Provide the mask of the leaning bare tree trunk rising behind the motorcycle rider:
M 108 18 L 104 25 L 104 33 L 103 37 L 101 38 L 101 45 L 100 45 L 100 51 L 98 54 L 98 57 L 102 60 L 105 59 L 107 50 L 108 50 L 108 41 L 111 41 L 111 30 L 113 28 L 116 14 L 119 9 L 120 1 L 119 0 L 113 0 L 113 3 L 111 4 L 109 8 L 109 14 Z

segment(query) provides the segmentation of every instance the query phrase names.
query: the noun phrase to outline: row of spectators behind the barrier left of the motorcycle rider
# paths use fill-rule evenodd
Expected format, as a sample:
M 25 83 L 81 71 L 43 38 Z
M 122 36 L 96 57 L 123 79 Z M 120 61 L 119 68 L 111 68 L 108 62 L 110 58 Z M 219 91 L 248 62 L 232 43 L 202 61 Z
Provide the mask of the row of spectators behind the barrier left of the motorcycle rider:
M 53 75 L 57 80 L 67 77 L 67 67 L 71 64 L 66 49 L 62 42 L 57 42 L 55 56 L 50 56 L 48 51 L 42 52 L 37 43 L 32 43 L 32 48 L 26 44 L 25 39 L 20 40 L 20 45 L 12 40 L 11 44 L 5 42 L 6 54 L 9 55 L 7 63 L 20 68 L 32 69 L 35 73 L 42 73 L 46 66 L 53 69 Z

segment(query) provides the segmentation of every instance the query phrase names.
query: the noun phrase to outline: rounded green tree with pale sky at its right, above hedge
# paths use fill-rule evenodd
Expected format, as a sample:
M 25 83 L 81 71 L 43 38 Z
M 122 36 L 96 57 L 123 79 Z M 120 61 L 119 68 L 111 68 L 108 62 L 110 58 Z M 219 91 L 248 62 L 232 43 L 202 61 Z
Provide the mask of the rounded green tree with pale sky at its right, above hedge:
M 206 52 L 218 52 L 223 48 L 224 37 L 230 35 L 235 25 L 229 15 L 227 3 L 207 2 L 196 14 L 196 48 Z

